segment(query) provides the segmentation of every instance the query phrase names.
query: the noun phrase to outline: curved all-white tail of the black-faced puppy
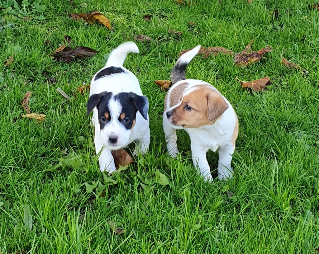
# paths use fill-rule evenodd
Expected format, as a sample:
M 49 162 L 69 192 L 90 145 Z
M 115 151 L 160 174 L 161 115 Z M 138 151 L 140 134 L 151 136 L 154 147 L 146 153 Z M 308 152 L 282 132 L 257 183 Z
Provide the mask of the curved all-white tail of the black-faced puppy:
M 113 49 L 108 56 L 106 66 L 123 66 L 128 53 L 139 53 L 139 49 L 133 41 L 124 42 Z

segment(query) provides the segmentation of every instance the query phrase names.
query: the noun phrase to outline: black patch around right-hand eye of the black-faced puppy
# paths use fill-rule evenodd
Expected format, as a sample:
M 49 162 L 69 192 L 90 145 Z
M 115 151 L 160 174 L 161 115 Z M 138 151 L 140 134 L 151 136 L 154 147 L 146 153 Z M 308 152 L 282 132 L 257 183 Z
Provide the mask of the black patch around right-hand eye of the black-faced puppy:
M 130 118 L 129 122 L 125 122 L 124 120 L 121 119 L 121 117 L 119 116 L 119 122 L 122 123 L 124 125 L 124 127 L 126 129 L 131 129 L 133 126 L 133 120 L 135 120 L 136 118 L 136 112 L 137 112 L 137 108 L 134 105 L 133 101 L 131 100 L 132 98 L 132 94 L 133 93 L 118 93 L 114 96 L 114 99 L 119 101 L 120 104 L 122 105 L 122 111 L 120 113 L 120 116 L 122 113 L 125 113 L 125 118 Z M 124 119 L 125 119 L 124 118 Z

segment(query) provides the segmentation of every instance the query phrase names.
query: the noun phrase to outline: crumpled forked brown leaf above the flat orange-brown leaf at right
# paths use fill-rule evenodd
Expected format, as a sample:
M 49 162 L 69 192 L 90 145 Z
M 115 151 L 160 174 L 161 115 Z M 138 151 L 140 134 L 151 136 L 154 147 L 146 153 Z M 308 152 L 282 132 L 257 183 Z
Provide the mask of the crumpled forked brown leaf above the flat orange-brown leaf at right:
M 253 43 L 253 40 L 249 42 L 249 44 L 245 47 L 245 49 L 237 54 L 234 54 L 235 64 L 247 66 L 250 63 L 258 62 L 263 54 L 272 51 L 272 47 L 266 46 L 265 48 L 260 49 L 257 52 L 250 53 L 250 47 Z

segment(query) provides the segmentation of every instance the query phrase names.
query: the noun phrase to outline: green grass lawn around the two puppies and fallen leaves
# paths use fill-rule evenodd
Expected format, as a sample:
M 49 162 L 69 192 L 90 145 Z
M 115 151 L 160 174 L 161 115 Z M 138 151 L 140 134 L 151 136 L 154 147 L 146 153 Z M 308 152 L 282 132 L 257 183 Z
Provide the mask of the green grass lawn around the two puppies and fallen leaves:
M 45 10 L 21 8 L 28 20 L 0 9 L 1 253 L 317 253 L 319 12 L 308 7 L 314 2 L 41 4 Z M 276 9 L 278 18 L 272 14 Z M 114 31 L 68 17 L 91 10 L 107 15 Z M 145 14 L 152 14 L 149 22 Z M 190 29 L 189 21 L 197 26 Z M 167 35 L 168 29 L 183 34 Z M 150 152 L 106 177 L 98 169 L 85 117 L 88 93 L 67 100 L 56 88 L 71 96 L 90 82 L 111 49 L 140 33 L 153 41 L 137 42 L 140 54 L 130 54 L 125 67 L 137 75 L 150 101 Z M 76 63 L 55 62 L 48 55 L 66 34 L 75 46 L 99 53 Z M 187 77 L 216 86 L 240 122 L 234 178 L 210 184 L 192 166 L 187 134 L 178 135 L 181 156 L 167 156 L 161 127 L 165 92 L 153 81 L 169 79 L 183 49 L 201 44 L 239 52 L 252 39 L 253 50 L 273 47 L 258 63 L 240 68 L 231 56 L 197 56 L 187 69 Z M 52 44 L 45 44 L 48 40 Z M 308 76 L 281 65 L 282 54 Z M 4 66 L 10 56 L 14 62 Z M 260 93 L 243 90 L 235 80 L 264 76 L 272 85 Z M 32 112 L 47 115 L 43 123 L 13 122 L 24 114 L 20 101 L 26 91 L 33 93 Z M 214 169 L 218 154 L 210 152 L 208 159 Z M 125 233 L 116 235 L 108 221 Z

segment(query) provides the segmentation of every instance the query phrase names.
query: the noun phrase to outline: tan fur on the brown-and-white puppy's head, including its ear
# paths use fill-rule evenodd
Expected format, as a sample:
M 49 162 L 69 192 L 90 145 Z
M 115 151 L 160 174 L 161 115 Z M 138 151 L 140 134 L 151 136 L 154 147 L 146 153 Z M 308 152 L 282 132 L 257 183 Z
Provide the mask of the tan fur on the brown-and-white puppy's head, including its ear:
M 189 105 L 192 110 L 187 111 Z M 197 89 L 184 96 L 180 106 L 174 109 L 171 121 L 186 128 L 197 128 L 212 125 L 228 108 L 224 98 L 209 86 L 198 86 Z

